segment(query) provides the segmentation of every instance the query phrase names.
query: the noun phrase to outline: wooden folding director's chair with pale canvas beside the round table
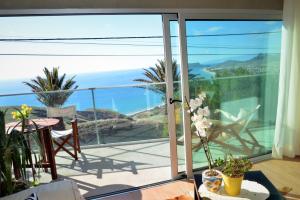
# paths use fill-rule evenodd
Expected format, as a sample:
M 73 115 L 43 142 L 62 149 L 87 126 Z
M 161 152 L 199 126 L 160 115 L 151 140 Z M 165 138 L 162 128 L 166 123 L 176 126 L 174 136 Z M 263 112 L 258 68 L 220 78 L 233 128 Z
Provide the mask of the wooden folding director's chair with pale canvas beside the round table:
M 54 149 L 54 155 L 59 150 L 64 150 L 75 160 L 78 160 L 77 153 L 81 153 L 78 137 L 78 126 L 76 118 L 76 107 L 70 106 L 65 108 L 47 107 L 47 117 L 59 119 L 59 123 L 52 127 L 51 136 L 57 148 Z M 71 128 L 66 129 L 64 119 L 71 119 Z M 71 141 L 73 139 L 73 141 Z M 65 147 L 68 144 L 73 148 L 73 153 Z

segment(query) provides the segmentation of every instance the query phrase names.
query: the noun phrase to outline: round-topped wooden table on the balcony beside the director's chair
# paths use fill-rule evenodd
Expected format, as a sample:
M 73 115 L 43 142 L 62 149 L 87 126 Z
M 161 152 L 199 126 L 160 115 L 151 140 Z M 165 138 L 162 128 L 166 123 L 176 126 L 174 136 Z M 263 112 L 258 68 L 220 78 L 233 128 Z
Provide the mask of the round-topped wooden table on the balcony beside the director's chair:
M 34 123 L 33 123 L 34 122 Z M 57 179 L 57 170 L 55 163 L 55 156 L 53 150 L 53 143 L 51 138 L 51 127 L 58 124 L 59 120 L 54 118 L 40 118 L 40 119 L 30 119 L 28 128 L 25 129 L 26 132 L 30 132 L 30 130 L 35 130 L 35 125 L 38 128 L 38 132 L 40 133 L 40 139 L 42 146 L 44 148 L 45 155 L 43 155 L 42 163 L 39 163 L 38 167 L 43 167 L 46 169 L 50 168 L 52 180 Z M 6 129 L 13 128 L 17 125 L 17 122 L 7 123 Z M 19 124 L 16 128 L 20 128 L 21 124 Z

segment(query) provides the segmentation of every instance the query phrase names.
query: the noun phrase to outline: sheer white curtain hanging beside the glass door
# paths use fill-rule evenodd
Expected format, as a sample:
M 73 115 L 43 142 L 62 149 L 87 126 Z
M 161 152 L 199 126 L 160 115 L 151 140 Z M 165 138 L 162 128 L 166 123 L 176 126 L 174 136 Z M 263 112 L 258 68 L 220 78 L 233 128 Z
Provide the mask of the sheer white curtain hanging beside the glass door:
M 298 12 L 297 12 L 298 11 Z M 300 155 L 300 1 L 283 8 L 279 96 L 272 155 Z

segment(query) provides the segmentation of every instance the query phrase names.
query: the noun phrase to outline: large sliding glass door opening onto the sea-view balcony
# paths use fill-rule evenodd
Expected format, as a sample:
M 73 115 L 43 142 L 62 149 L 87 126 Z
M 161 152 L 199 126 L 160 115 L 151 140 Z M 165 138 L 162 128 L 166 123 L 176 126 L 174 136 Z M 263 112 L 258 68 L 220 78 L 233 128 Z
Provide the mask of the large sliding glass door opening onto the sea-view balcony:
M 184 171 L 191 177 L 193 169 L 206 166 L 186 109 L 186 101 L 201 92 L 211 111 L 214 158 L 270 152 L 281 21 L 241 21 L 240 13 L 234 20 L 231 13 L 178 15 L 0 17 L 0 108 L 27 104 L 31 118 L 46 118 L 48 106 L 76 107 L 79 161 L 59 152 L 56 165 L 59 175 L 84 185 L 86 197 Z M 59 69 L 78 88 L 24 84 L 44 78 L 44 67 Z M 54 102 L 66 92 L 65 101 Z M 14 120 L 10 113 L 6 122 Z M 49 181 L 43 172 L 40 182 Z

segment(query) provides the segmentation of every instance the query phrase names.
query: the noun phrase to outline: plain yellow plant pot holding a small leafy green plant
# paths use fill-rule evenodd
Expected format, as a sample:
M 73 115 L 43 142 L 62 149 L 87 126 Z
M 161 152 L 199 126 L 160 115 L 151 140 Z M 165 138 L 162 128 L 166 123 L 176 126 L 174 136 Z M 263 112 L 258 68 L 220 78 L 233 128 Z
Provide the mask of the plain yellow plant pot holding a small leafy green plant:
M 233 178 L 222 174 L 225 191 L 230 196 L 237 196 L 241 192 L 242 181 L 244 176 Z

